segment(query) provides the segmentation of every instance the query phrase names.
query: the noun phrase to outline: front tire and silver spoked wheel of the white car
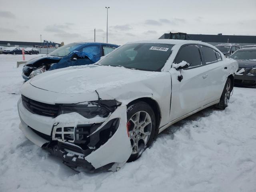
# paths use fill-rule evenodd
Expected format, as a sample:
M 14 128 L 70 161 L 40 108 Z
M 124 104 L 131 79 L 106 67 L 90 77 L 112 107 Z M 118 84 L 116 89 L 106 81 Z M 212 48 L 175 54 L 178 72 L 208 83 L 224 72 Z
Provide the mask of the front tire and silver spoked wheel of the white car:
M 138 101 L 128 106 L 127 130 L 132 145 L 132 154 L 127 162 L 132 162 L 150 146 L 155 136 L 156 117 L 146 102 Z

